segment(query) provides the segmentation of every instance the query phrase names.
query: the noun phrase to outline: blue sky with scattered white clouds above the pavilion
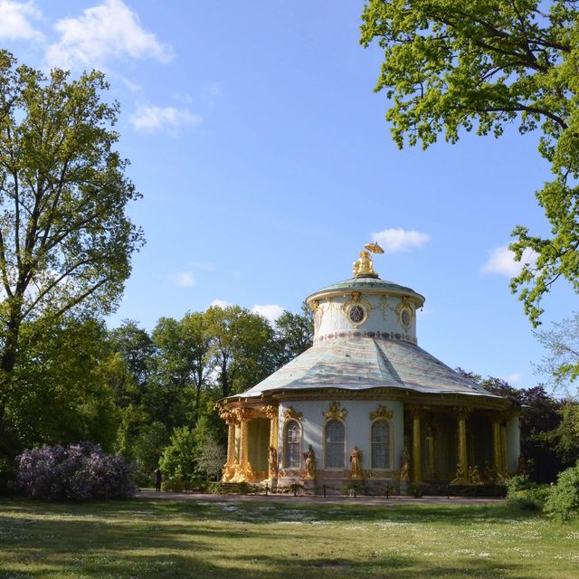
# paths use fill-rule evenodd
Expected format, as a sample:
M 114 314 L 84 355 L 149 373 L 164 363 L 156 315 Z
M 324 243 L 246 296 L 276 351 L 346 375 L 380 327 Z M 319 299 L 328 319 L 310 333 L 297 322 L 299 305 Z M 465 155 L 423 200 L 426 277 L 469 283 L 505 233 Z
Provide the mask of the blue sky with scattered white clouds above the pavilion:
M 545 382 L 508 288 L 514 227 L 549 233 L 537 135 L 399 150 L 374 91 L 381 51 L 359 43 L 363 6 L 0 0 L 0 46 L 44 71 L 100 69 L 120 103 L 118 148 L 143 195 L 128 214 L 147 244 L 108 325 L 152 329 L 212 304 L 297 312 L 378 241 L 380 277 L 426 297 L 420 346 L 516 387 Z M 558 283 L 543 327 L 576 302 Z

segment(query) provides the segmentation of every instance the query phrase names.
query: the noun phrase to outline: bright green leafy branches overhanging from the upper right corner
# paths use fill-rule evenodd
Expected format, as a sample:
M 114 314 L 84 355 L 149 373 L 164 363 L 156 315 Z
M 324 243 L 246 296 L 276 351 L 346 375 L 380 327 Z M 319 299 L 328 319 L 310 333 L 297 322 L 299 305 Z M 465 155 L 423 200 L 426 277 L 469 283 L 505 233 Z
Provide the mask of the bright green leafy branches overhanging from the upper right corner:
M 534 326 L 541 297 L 565 278 L 579 291 L 579 7 L 575 0 L 369 0 L 361 43 L 375 39 L 384 62 L 375 87 L 391 99 L 394 141 L 422 147 L 460 129 L 499 137 L 510 122 L 539 133 L 554 178 L 536 192 L 553 235 L 517 226 L 511 280 Z

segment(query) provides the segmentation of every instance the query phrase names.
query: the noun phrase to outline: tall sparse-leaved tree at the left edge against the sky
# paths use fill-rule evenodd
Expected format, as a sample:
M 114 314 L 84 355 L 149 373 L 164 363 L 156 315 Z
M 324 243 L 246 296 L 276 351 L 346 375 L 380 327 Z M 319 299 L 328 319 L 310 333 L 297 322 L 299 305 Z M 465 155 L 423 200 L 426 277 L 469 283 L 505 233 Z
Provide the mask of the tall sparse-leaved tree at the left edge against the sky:
M 45 77 L 0 52 L 0 437 L 23 323 L 109 314 L 142 244 L 107 89 L 100 72 Z

